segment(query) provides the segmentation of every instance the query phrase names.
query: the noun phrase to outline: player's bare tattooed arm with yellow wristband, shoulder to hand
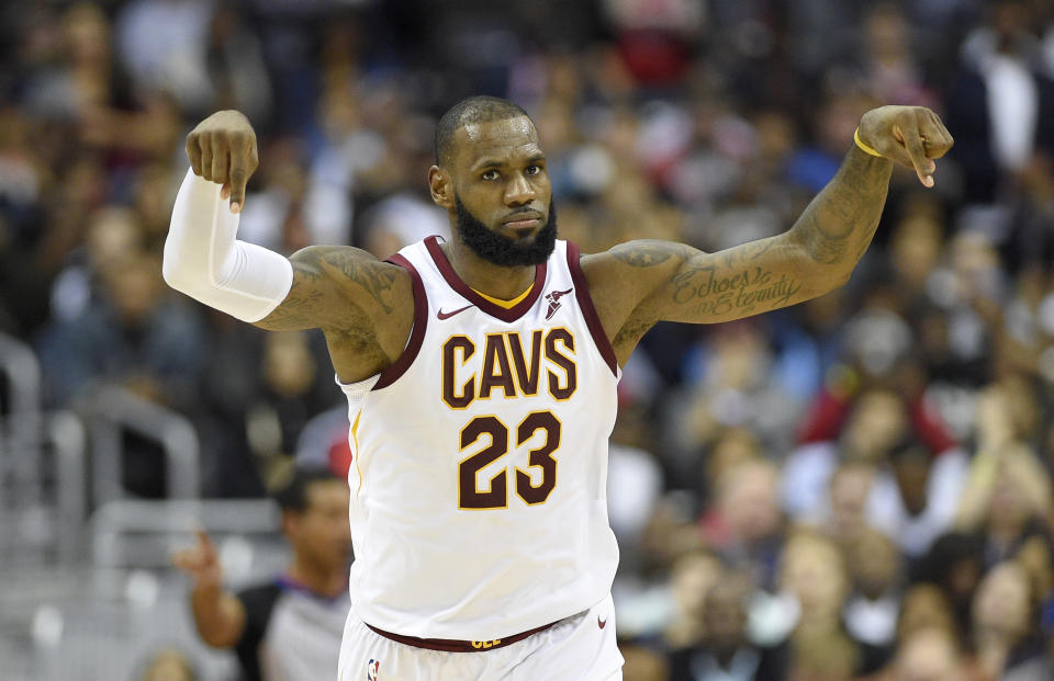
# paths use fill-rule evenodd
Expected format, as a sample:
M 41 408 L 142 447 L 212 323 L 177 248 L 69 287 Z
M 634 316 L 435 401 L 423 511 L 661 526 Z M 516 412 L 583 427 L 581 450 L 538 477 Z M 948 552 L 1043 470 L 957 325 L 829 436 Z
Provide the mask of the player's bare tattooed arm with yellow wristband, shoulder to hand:
M 845 283 L 878 226 L 893 170 L 889 159 L 915 168 L 931 186 L 930 159 L 952 145 L 929 110 L 883 107 L 864 117 L 861 129 L 865 126 L 884 157 L 850 149 L 834 178 L 782 235 L 718 253 L 668 241 L 630 241 L 583 259 L 619 361 L 657 321 L 730 321 Z

